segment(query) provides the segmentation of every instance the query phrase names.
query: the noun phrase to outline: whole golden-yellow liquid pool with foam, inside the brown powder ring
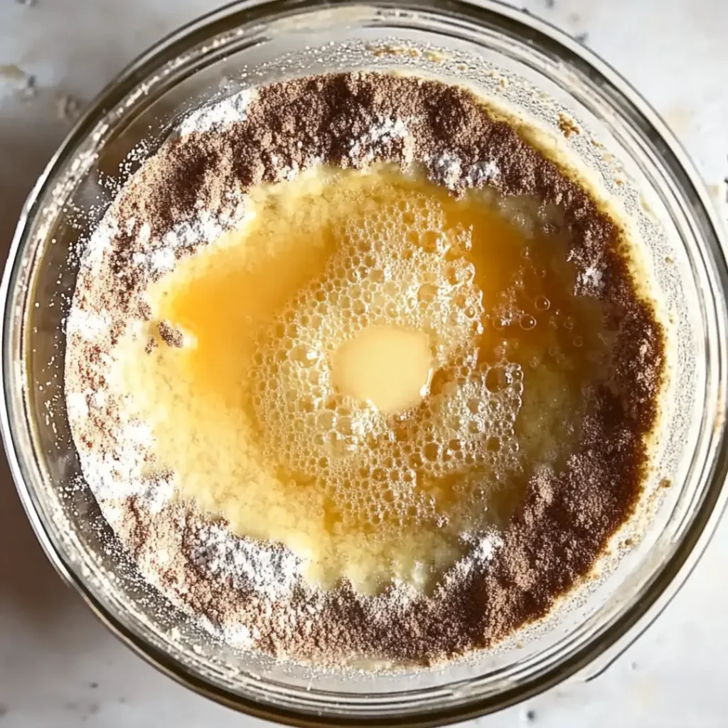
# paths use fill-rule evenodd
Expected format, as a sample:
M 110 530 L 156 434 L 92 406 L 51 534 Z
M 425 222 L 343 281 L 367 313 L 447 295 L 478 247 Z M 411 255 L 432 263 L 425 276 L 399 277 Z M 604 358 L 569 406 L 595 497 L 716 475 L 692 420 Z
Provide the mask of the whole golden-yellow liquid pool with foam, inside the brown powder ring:
M 149 331 L 119 348 L 154 467 L 314 583 L 427 587 L 569 454 L 599 304 L 571 295 L 530 199 L 455 200 L 375 167 L 250 203 L 244 229 L 151 285 Z M 190 343 L 147 355 L 162 319 Z

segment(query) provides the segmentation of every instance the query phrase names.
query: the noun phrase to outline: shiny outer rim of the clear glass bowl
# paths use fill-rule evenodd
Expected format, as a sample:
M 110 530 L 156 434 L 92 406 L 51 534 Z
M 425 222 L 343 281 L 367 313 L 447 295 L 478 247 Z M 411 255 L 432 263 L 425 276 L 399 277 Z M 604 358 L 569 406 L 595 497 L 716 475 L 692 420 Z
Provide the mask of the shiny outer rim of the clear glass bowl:
M 598 640 L 582 647 L 575 654 L 572 654 L 569 660 L 561 662 L 550 672 L 535 677 L 529 684 L 521 684 L 499 695 L 486 697 L 483 700 L 468 703 L 464 706 L 454 705 L 447 709 L 438 708 L 426 715 L 419 714 L 416 719 L 408 719 L 407 716 L 376 719 L 346 719 L 341 716 L 314 717 L 309 713 L 274 709 L 211 684 L 209 681 L 191 673 L 188 668 L 170 657 L 169 654 L 143 640 L 141 636 L 135 634 L 119 621 L 115 614 L 96 598 L 84 584 L 82 574 L 66 558 L 66 555 L 55 547 L 50 530 L 47 528 L 47 524 L 44 523 L 42 511 L 39 507 L 38 496 L 31 478 L 31 469 L 28 467 L 28 462 L 25 462 L 25 454 L 23 454 L 21 448 L 17 447 L 13 430 L 13 425 L 18 422 L 19 418 L 22 420 L 24 413 L 17 411 L 17 403 L 13 401 L 13 392 L 9 384 L 12 378 L 10 369 L 13 366 L 12 352 L 14 345 L 10 326 L 14 315 L 12 310 L 14 296 L 12 294 L 15 293 L 20 261 L 23 259 L 25 249 L 31 242 L 30 233 L 33 229 L 33 221 L 40 212 L 40 201 L 44 193 L 52 185 L 55 175 L 65 165 L 68 158 L 74 154 L 79 143 L 95 127 L 95 124 L 103 118 L 103 115 L 109 109 L 115 108 L 117 103 L 139 82 L 149 78 L 156 68 L 159 68 L 168 60 L 181 55 L 185 50 L 194 47 L 199 42 L 205 41 L 205 39 L 218 33 L 232 30 L 238 25 L 252 23 L 253 21 L 264 23 L 266 20 L 277 17 L 284 12 L 294 10 L 314 11 L 343 4 L 352 3 L 347 3 L 346 0 L 240 0 L 233 2 L 199 17 L 187 25 L 183 25 L 177 31 L 170 33 L 165 39 L 154 44 L 153 47 L 132 61 L 127 68 L 116 76 L 90 104 L 87 111 L 84 112 L 74 129 L 69 132 L 65 141 L 52 157 L 28 196 L 9 250 L 0 286 L 0 302 L 4 312 L 0 323 L 3 352 L 1 379 L 4 395 L 0 406 L 0 428 L 15 486 L 31 526 L 47 557 L 60 576 L 69 585 L 76 588 L 84 601 L 90 606 L 92 612 L 111 632 L 151 665 L 154 665 L 154 667 L 184 686 L 218 703 L 228 705 L 252 716 L 280 723 L 311 727 L 363 724 L 381 726 L 442 725 L 491 713 L 505 708 L 507 705 L 526 700 L 528 697 L 537 695 L 539 692 L 558 684 L 563 679 L 576 675 L 589 665 L 591 665 L 591 668 L 586 677 L 593 678 L 597 676 L 629 644 L 632 644 L 662 612 L 662 609 L 667 606 L 673 596 L 678 593 L 685 579 L 687 579 L 700 559 L 700 555 L 702 555 L 708 542 L 710 542 L 728 497 L 727 489 L 723 488 L 728 473 L 728 448 L 725 446 L 727 435 L 724 427 L 724 392 L 727 381 L 724 350 L 719 352 L 718 357 L 720 369 L 718 376 L 723 387 L 723 401 L 721 402 L 722 411 L 716 417 L 713 433 L 714 444 L 713 448 L 711 448 L 716 453 L 716 457 L 713 462 L 708 463 L 711 470 L 709 475 L 710 484 L 703 493 L 702 502 L 684 535 L 680 548 L 672 558 L 662 565 L 645 598 L 638 601 L 637 604 L 632 604 L 625 614 L 622 614 L 609 629 L 599 636 Z M 703 242 L 708 247 L 710 256 L 707 265 L 710 267 L 714 279 L 718 282 L 719 296 L 715 295 L 715 291 L 710 293 L 713 298 L 717 331 L 724 338 L 725 331 L 728 328 L 728 316 L 724 301 L 724 292 L 728 290 L 728 269 L 724 259 L 725 241 L 722 240 L 721 223 L 717 219 L 716 211 L 713 209 L 707 191 L 705 191 L 705 187 L 700 180 L 700 175 L 693 167 L 684 149 L 682 149 L 665 123 L 662 122 L 657 112 L 641 98 L 638 92 L 622 76 L 617 74 L 604 60 L 598 58 L 596 54 L 578 44 L 553 25 L 495 0 L 422 0 L 419 2 L 384 0 L 365 4 L 381 7 L 382 9 L 402 11 L 440 11 L 443 13 L 443 17 L 448 14 L 455 14 L 476 24 L 478 21 L 483 22 L 487 19 L 491 23 L 498 23 L 505 33 L 513 34 L 521 39 L 527 37 L 529 42 L 534 44 L 539 51 L 553 55 L 568 66 L 578 68 L 579 71 L 587 74 L 593 82 L 596 82 L 604 90 L 605 94 L 609 95 L 612 103 L 619 106 L 622 113 L 629 116 L 634 125 L 640 127 L 649 138 L 660 143 L 663 162 L 678 180 L 681 191 L 689 197 L 693 205 L 697 205 L 694 214 L 703 219 L 703 227 L 710 233 L 703 236 L 705 237 Z M 724 348 L 724 342 L 721 346 Z

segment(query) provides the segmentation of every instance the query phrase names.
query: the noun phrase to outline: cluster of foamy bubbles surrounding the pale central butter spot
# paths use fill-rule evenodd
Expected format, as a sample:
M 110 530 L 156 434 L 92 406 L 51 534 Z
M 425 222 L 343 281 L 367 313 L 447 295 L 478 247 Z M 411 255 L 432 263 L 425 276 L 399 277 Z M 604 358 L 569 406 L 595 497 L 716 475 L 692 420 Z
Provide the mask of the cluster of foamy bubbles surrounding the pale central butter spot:
M 521 368 L 478 364 L 470 231 L 448 227 L 436 202 L 377 200 L 341 237 L 325 273 L 261 341 L 253 407 L 265 447 L 322 488 L 344 524 L 441 518 L 443 479 L 477 474 L 482 489 L 516 466 Z M 375 325 L 430 337 L 435 382 L 418 407 L 387 415 L 333 387 L 334 352 Z

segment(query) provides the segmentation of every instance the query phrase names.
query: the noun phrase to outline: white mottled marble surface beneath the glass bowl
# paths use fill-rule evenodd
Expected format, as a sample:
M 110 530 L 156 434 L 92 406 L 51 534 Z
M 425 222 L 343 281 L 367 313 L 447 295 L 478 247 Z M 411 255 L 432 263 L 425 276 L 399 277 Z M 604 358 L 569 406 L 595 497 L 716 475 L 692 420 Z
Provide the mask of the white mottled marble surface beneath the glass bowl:
M 520 4 L 520 3 L 519 3 Z M 78 106 L 138 52 L 212 0 L 0 0 L 0 246 Z M 724 204 L 728 3 L 526 0 L 630 79 Z M 728 725 L 728 522 L 687 586 L 612 668 L 481 728 Z M 725 600 L 725 601 L 724 601 Z M 0 728 L 263 726 L 178 687 L 127 651 L 60 582 L 0 469 Z

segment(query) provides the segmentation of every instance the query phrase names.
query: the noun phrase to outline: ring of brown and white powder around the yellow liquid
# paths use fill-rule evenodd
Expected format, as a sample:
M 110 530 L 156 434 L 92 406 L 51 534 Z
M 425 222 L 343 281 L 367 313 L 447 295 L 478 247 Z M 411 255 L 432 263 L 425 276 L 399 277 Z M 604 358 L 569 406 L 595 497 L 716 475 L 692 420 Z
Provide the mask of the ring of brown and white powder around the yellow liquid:
M 194 502 L 172 499 L 175 475 L 155 472 L 148 428 L 129 419 L 109 381 L 119 337 L 149 320 L 146 286 L 241 226 L 250 186 L 321 163 L 381 160 L 424 165 L 455 195 L 488 185 L 558 206 L 574 293 L 599 298 L 614 332 L 609 378 L 585 392 L 577 451 L 558 472 L 534 474 L 502 533 L 468 536 L 470 554 L 427 595 L 397 583 L 376 596 L 346 582 L 315 590 L 290 551 L 235 537 Z M 87 245 L 66 329 L 68 413 L 84 475 L 150 582 L 236 644 L 325 664 L 429 663 L 491 646 L 590 571 L 638 497 L 664 341 L 626 249 L 579 183 L 459 87 L 394 74 L 311 76 L 202 108 L 124 186 Z M 159 334 L 183 342 L 167 323 Z

